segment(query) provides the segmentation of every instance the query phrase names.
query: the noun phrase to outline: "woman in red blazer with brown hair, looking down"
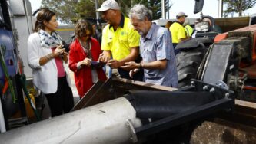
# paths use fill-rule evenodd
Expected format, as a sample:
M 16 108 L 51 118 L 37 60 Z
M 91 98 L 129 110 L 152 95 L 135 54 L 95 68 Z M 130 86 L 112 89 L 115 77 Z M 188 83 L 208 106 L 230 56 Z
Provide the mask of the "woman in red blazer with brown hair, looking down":
M 80 98 L 91 88 L 97 80 L 107 80 L 98 63 L 101 47 L 95 38 L 91 37 L 93 30 L 88 21 L 79 20 L 75 25 L 75 41 L 69 51 L 69 68 L 74 72 L 75 85 Z

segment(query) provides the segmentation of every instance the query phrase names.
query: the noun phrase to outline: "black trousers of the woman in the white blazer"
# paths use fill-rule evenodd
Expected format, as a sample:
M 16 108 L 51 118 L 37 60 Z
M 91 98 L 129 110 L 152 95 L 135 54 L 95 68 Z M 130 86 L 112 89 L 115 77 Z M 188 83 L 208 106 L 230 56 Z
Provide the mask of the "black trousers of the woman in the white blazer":
M 58 77 L 56 93 L 45 94 L 52 117 L 68 113 L 74 107 L 74 98 L 66 77 Z

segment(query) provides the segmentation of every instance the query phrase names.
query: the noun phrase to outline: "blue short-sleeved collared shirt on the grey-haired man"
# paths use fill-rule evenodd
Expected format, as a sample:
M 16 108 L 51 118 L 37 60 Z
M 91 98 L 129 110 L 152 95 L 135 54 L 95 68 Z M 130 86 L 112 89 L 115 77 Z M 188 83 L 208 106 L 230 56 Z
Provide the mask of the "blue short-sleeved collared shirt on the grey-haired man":
M 144 70 L 145 82 L 167 87 L 177 87 L 178 74 L 171 33 L 166 28 L 152 23 L 146 36 L 141 36 L 140 53 L 143 62 L 167 60 L 165 70 Z

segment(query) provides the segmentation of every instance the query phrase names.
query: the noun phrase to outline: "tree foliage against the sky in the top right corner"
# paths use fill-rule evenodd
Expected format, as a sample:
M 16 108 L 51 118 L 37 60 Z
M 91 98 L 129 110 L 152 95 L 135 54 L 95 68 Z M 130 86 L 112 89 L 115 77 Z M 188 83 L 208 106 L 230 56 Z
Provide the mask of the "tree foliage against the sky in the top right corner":
M 238 15 L 241 16 L 243 11 L 252 8 L 256 4 L 256 0 L 224 0 L 223 3 L 227 7 L 224 11 L 225 16 L 233 12 L 238 12 Z

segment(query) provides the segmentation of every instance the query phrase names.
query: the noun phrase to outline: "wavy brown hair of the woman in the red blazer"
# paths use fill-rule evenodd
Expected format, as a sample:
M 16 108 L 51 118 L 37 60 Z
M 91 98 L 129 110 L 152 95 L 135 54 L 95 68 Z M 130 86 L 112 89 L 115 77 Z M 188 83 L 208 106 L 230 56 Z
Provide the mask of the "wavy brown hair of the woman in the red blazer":
M 78 22 L 75 25 L 75 37 L 81 38 L 85 36 L 86 30 L 90 31 L 91 34 L 93 34 L 93 28 L 89 21 L 86 21 L 84 19 L 78 20 Z M 90 35 L 91 37 L 91 35 Z

